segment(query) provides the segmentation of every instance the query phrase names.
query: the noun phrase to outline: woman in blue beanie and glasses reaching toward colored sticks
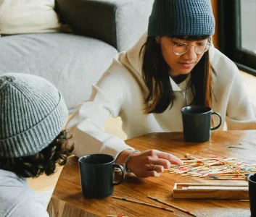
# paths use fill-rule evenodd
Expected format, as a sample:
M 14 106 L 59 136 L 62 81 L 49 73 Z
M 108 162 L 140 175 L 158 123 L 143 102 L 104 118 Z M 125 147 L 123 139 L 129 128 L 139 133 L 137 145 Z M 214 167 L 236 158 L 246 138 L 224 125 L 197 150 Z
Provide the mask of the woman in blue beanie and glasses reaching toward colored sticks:
M 228 129 L 256 129 L 239 70 L 212 45 L 214 28 L 210 0 L 155 0 L 148 32 L 118 54 L 68 122 L 77 155 L 110 154 L 141 177 L 159 176 L 170 163 L 182 164 L 159 150 L 136 152 L 106 134 L 110 114 L 121 117 L 128 138 L 182 131 L 181 108 L 190 104 L 211 106 Z

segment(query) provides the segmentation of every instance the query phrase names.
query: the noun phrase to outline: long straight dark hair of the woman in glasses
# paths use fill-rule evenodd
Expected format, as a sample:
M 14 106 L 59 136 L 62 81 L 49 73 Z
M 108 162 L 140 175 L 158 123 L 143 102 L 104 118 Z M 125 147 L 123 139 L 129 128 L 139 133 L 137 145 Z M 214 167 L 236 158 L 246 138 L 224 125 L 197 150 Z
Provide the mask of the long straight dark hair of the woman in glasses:
M 172 36 L 170 38 L 185 39 L 187 41 L 199 41 L 208 39 L 210 35 L 202 36 Z M 142 59 L 142 75 L 144 82 L 149 90 L 149 95 L 146 98 L 146 103 L 152 101 L 146 107 L 146 114 L 162 113 L 168 106 L 173 106 L 175 95 L 173 88 L 170 85 L 169 69 L 170 67 L 165 62 L 162 56 L 160 45 L 154 37 L 148 37 L 144 46 L 141 47 L 140 54 Z M 189 84 L 192 87 L 194 101 L 196 105 L 212 105 L 212 75 L 214 69 L 210 65 L 209 51 L 205 52 L 202 59 L 197 63 L 194 69 L 191 70 L 191 80 Z

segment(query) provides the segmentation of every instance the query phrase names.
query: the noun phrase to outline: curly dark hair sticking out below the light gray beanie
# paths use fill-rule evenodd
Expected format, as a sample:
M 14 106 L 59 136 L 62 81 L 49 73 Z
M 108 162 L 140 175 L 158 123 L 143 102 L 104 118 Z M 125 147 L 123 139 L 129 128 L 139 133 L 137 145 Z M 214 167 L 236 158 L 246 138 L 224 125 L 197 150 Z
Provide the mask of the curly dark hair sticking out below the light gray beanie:
M 44 173 L 49 176 L 54 173 L 57 163 L 59 166 L 65 165 L 67 157 L 72 155 L 75 145 L 69 142 L 70 138 L 71 135 L 63 130 L 36 155 L 21 158 L 0 158 L 0 169 L 12 171 L 17 176 L 24 178 L 38 177 Z

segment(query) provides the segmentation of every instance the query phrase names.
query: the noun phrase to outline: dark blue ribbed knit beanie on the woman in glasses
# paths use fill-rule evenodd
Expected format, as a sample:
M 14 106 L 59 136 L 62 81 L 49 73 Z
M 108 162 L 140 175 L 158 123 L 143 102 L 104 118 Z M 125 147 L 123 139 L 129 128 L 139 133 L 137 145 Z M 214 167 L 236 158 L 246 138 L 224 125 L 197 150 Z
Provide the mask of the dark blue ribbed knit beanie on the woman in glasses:
M 210 0 L 154 0 L 148 36 L 213 35 Z

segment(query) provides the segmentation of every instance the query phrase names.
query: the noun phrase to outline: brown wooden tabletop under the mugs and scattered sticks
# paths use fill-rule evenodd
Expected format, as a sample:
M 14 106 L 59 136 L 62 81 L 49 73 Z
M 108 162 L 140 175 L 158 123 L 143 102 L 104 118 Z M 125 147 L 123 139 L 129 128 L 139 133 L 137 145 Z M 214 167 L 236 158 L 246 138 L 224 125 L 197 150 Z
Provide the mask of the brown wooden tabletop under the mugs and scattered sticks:
M 186 153 L 194 156 L 236 157 L 245 163 L 256 163 L 256 131 L 212 132 L 209 142 L 189 143 L 183 141 L 181 132 L 152 133 L 127 140 L 126 143 L 136 150 L 157 149 L 184 158 Z M 185 208 L 197 216 L 246 217 L 250 216 L 249 203 L 240 200 L 197 200 L 173 199 L 173 185 L 176 182 L 211 182 L 247 184 L 243 180 L 207 180 L 191 176 L 181 176 L 165 172 L 160 177 L 139 178 L 128 174 L 125 181 L 115 186 L 112 196 L 142 200 L 146 203 L 161 205 L 146 195 L 157 197 L 168 203 Z M 48 206 L 51 217 L 94 217 L 107 215 L 123 216 L 189 216 L 180 210 L 173 213 L 166 210 L 148 207 L 136 203 L 125 202 L 110 197 L 97 200 L 84 199 L 80 187 L 78 158 L 70 158 L 69 163 L 59 176 L 54 193 Z M 161 205 L 165 206 L 165 205 Z

